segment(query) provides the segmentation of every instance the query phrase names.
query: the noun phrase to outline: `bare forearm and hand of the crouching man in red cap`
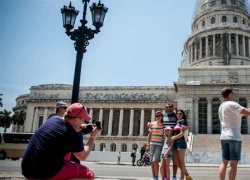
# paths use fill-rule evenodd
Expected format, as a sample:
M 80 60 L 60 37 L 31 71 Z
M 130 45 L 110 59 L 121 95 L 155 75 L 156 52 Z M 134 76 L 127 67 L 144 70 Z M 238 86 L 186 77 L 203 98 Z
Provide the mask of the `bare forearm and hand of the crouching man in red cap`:
M 96 139 L 97 134 L 99 134 L 102 131 L 102 129 L 97 129 L 96 127 L 93 129 L 93 131 L 90 134 L 90 138 L 88 142 L 85 144 L 84 149 L 81 152 L 74 153 L 74 155 L 79 159 L 79 160 L 85 160 L 92 149 L 92 146 L 94 144 L 94 141 Z

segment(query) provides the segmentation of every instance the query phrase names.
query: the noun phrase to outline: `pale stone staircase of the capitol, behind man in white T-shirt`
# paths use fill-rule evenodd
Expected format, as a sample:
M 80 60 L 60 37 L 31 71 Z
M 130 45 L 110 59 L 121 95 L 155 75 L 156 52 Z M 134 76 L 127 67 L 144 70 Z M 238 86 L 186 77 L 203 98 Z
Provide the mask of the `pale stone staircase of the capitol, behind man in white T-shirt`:
M 188 136 L 191 152 L 220 152 L 219 134 L 192 134 Z M 250 135 L 242 135 L 242 152 L 250 153 Z

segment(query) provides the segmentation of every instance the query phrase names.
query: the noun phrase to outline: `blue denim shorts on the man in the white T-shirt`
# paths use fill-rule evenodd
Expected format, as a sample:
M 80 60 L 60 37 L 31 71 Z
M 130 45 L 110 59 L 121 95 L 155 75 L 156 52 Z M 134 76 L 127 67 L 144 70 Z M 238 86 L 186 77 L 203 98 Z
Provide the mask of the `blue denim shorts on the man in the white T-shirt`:
M 221 140 L 222 159 L 224 160 L 240 160 L 242 141 Z

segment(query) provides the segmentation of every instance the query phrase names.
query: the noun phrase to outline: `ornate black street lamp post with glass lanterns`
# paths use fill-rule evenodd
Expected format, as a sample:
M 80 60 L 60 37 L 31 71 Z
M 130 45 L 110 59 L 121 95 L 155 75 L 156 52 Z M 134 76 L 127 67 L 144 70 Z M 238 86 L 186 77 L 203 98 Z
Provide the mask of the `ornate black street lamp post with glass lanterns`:
M 94 38 L 94 35 L 100 32 L 100 28 L 103 26 L 105 15 L 108 11 L 103 4 L 101 4 L 100 0 L 98 4 L 93 3 L 90 7 L 90 11 L 92 13 L 92 21 L 95 29 L 92 30 L 86 26 L 86 14 L 87 14 L 87 5 L 90 0 L 82 0 L 83 7 L 83 18 L 80 20 L 81 26 L 78 29 L 71 31 L 74 28 L 76 17 L 79 13 L 75 9 L 75 7 L 71 6 L 71 2 L 69 6 L 64 6 L 61 9 L 62 19 L 63 19 L 63 27 L 66 29 L 66 34 L 70 36 L 70 39 L 75 41 L 74 46 L 76 50 L 76 64 L 75 64 L 75 75 L 73 82 L 73 90 L 71 97 L 71 104 L 78 102 L 79 97 L 79 88 L 80 88 L 80 77 L 81 77 L 81 68 L 82 68 L 82 59 L 83 54 L 87 51 L 86 47 L 89 45 L 89 40 Z

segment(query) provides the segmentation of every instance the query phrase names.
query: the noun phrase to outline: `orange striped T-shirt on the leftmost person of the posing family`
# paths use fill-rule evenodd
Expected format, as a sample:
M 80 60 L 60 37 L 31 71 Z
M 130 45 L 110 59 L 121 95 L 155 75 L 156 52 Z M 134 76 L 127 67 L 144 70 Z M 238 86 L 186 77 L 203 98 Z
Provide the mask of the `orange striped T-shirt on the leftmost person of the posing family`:
M 151 127 L 149 128 L 149 132 L 152 132 L 150 145 L 162 146 L 163 124 L 157 123 L 157 121 L 152 122 Z

